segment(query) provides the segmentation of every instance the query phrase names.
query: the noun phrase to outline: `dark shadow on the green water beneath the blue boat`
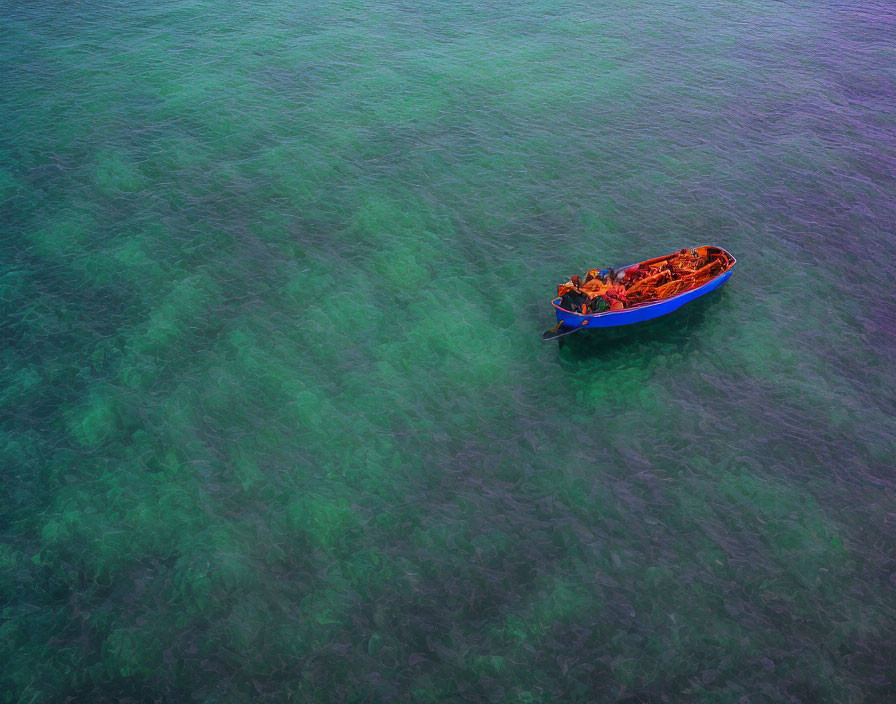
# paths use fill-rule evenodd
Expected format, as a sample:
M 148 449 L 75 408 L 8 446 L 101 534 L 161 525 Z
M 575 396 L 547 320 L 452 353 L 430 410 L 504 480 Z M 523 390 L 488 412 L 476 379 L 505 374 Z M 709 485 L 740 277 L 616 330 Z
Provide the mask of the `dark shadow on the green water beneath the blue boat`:
M 705 296 L 683 306 L 671 315 L 643 323 L 614 328 L 582 330 L 557 340 L 557 348 L 567 360 L 594 359 L 630 354 L 636 350 L 684 346 L 700 334 L 707 320 L 721 314 L 726 291 Z M 710 321 L 711 322 L 711 321 Z

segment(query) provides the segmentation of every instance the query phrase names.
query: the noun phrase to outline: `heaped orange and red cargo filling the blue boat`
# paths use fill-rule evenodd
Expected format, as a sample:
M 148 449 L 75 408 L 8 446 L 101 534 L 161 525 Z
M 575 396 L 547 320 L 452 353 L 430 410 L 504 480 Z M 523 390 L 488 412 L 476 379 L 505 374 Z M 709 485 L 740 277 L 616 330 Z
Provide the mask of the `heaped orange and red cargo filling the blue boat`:
M 584 283 L 576 275 L 560 284 L 557 295 L 561 308 L 576 313 L 622 310 L 702 286 L 730 266 L 728 255 L 716 247 L 682 249 L 618 272 L 592 269 Z

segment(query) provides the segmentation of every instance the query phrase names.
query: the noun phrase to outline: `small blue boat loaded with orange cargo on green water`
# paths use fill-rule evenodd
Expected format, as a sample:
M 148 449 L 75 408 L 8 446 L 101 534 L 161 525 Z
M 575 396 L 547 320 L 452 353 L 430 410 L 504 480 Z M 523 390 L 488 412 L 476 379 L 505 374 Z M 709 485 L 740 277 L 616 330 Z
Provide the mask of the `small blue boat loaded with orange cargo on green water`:
M 678 266 L 679 262 L 684 266 Z M 699 268 L 687 268 L 690 262 L 692 267 Z M 557 327 L 543 333 L 542 339 L 556 340 L 580 330 L 633 325 L 668 315 L 724 286 L 736 263 L 721 247 L 703 245 L 615 270 L 592 270 L 581 287 L 578 277 L 573 277 L 558 287 L 558 296 L 551 301 L 557 314 Z M 657 285 L 654 281 L 663 283 Z M 581 300 L 587 300 L 580 310 L 571 310 L 577 306 L 570 305 L 569 297 L 564 300 L 563 292 L 570 289 L 583 296 Z M 617 291 L 619 294 L 613 297 Z M 610 301 L 610 309 L 591 312 L 595 308 L 591 304 L 601 302 L 592 292 L 604 292 L 600 298 Z M 634 293 L 631 300 L 625 300 L 626 293 Z

